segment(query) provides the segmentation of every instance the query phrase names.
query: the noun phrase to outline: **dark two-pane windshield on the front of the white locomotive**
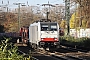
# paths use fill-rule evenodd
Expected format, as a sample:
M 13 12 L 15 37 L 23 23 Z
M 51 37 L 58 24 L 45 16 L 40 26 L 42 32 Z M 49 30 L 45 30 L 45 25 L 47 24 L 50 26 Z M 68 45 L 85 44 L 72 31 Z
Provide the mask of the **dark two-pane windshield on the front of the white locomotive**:
M 41 24 L 41 31 L 57 31 L 56 23 Z

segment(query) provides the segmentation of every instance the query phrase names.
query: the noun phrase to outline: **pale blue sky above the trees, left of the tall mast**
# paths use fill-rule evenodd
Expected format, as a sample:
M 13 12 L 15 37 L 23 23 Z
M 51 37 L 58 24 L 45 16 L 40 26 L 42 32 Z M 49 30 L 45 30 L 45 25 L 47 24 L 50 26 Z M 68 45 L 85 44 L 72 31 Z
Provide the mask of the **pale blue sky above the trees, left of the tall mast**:
M 9 1 L 9 3 L 8 3 Z M 0 5 L 9 4 L 9 8 L 16 7 L 13 3 L 25 3 L 25 5 L 37 5 L 37 4 L 47 4 L 49 1 L 50 4 L 64 4 L 64 0 L 0 0 Z M 28 2 L 28 3 L 27 3 Z

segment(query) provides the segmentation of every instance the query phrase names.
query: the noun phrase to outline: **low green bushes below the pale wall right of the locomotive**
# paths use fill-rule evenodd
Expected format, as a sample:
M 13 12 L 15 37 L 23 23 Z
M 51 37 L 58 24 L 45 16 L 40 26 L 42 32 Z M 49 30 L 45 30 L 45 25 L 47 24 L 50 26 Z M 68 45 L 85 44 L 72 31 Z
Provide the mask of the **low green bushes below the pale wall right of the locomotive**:
M 60 37 L 60 42 L 64 44 L 77 45 L 82 47 L 90 46 L 90 38 L 87 38 L 87 37 L 74 38 L 71 36 L 63 36 L 63 37 Z

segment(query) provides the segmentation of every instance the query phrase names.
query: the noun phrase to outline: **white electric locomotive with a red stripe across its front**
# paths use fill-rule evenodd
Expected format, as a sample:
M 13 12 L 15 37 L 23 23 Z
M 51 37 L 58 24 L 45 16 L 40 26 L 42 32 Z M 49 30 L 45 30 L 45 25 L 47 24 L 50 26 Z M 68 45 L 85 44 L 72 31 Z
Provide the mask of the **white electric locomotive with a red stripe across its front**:
M 29 42 L 32 48 L 59 47 L 59 25 L 42 19 L 29 26 Z

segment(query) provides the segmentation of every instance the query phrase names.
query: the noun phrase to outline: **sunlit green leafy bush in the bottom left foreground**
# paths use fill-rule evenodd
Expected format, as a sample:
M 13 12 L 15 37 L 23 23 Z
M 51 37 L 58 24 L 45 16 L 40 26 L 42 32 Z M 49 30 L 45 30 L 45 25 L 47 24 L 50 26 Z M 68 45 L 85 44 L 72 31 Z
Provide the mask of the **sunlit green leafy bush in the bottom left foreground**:
M 12 43 L 8 43 L 11 38 L 5 38 L 0 44 L 0 60 L 24 60 L 23 55 L 17 53 L 18 47 L 13 46 Z M 28 58 L 30 60 L 30 58 Z

